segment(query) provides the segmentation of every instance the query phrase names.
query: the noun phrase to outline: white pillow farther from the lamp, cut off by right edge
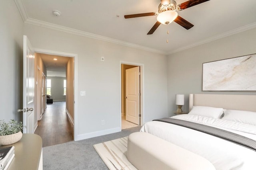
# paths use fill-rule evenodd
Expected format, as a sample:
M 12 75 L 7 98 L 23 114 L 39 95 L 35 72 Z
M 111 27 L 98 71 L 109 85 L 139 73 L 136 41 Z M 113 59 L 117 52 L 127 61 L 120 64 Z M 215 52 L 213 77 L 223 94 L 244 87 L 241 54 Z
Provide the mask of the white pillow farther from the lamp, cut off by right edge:
M 224 110 L 224 120 L 237 121 L 250 125 L 256 125 L 256 112 L 244 110 Z

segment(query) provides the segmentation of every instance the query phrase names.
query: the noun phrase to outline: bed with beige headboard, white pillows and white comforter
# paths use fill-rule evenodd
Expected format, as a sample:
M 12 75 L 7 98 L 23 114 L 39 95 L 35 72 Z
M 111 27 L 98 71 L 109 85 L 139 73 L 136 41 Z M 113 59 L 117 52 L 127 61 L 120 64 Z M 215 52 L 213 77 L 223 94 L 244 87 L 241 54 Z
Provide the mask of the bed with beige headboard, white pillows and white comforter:
M 256 145 L 254 95 L 190 94 L 189 114 L 172 116 L 172 119 L 223 129 L 246 137 Z M 255 150 L 220 137 L 162 121 L 147 122 L 140 131 L 206 158 L 216 170 L 256 169 Z

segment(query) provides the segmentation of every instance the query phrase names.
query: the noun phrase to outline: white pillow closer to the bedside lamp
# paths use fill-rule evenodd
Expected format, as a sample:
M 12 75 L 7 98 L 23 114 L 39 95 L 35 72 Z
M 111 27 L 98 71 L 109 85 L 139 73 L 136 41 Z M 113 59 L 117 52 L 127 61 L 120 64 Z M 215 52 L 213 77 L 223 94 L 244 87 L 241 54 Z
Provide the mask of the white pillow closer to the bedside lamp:
M 188 114 L 201 115 L 219 119 L 223 114 L 223 109 L 218 107 L 193 106 Z

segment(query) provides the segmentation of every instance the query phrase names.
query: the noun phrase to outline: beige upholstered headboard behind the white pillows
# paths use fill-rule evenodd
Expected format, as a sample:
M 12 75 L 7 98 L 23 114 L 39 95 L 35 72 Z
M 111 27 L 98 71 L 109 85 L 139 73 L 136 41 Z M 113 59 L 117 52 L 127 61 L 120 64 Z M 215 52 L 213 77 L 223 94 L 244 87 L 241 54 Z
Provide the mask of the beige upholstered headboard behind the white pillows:
M 193 106 L 221 107 L 223 109 L 256 111 L 256 95 L 190 94 L 189 111 Z

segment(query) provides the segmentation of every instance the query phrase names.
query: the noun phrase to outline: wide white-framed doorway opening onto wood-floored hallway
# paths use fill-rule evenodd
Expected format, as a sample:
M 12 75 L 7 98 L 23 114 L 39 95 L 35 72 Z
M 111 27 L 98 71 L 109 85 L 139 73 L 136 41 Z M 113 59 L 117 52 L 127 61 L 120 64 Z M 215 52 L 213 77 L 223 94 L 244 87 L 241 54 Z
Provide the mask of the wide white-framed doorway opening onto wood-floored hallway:
M 46 110 L 44 111 L 44 114 L 42 117 L 40 117 L 40 123 L 38 121 L 38 128 L 36 129 L 35 133 L 41 133 L 43 136 L 43 145 L 44 145 L 44 137 L 47 135 L 52 135 L 52 137 L 48 137 L 48 141 L 46 139 L 46 145 L 56 145 L 58 143 L 65 143 L 68 141 L 73 141 L 76 139 L 76 131 L 75 131 L 75 116 L 76 116 L 76 106 L 75 106 L 75 99 L 76 99 L 76 58 L 77 55 L 75 54 L 68 54 L 68 53 L 62 53 L 62 52 L 54 52 L 54 51 L 47 51 L 47 50 L 41 50 L 36 49 L 36 53 L 40 54 L 40 60 L 42 63 L 44 63 L 44 57 L 48 58 L 49 60 L 52 60 L 52 65 L 57 67 L 59 62 L 54 62 L 54 59 L 57 59 L 57 61 L 61 61 L 62 59 L 66 60 L 66 63 L 64 63 L 65 70 L 64 73 L 60 73 L 61 71 L 56 69 L 56 75 L 52 74 L 53 70 L 50 70 L 48 72 L 49 65 L 44 65 L 41 67 L 42 70 L 47 70 L 47 73 L 45 74 L 45 81 L 44 84 L 38 83 L 44 88 L 41 88 L 43 91 L 41 91 L 42 94 L 42 105 L 46 103 L 46 94 L 47 94 L 47 83 L 49 78 L 56 80 L 55 82 L 55 89 L 54 86 L 52 86 L 52 90 L 54 90 L 55 96 L 51 96 L 53 101 L 53 104 L 45 104 L 44 108 Z M 63 63 L 62 63 L 63 64 Z M 37 69 L 37 72 L 40 72 L 40 68 Z M 61 76 L 60 74 L 63 74 Z M 49 75 L 51 77 L 49 77 Z M 52 83 L 54 83 L 54 80 Z M 58 81 L 57 81 L 58 80 Z M 61 82 L 60 82 L 61 81 Z M 61 91 L 61 94 L 57 94 L 57 91 Z M 52 94 L 54 94 L 52 93 Z M 43 98 L 44 97 L 44 98 Z M 47 96 L 48 97 L 48 96 Z M 60 98 L 62 97 L 62 98 Z M 54 114 L 52 113 L 54 112 Z M 58 115 L 57 115 L 58 114 Z M 49 117 L 52 117 L 52 120 L 49 122 Z M 42 121 L 43 119 L 47 119 L 47 121 Z M 61 122 L 61 123 L 60 123 Z M 42 125 L 43 123 L 48 123 L 47 125 Z M 42 130 L 39 128 L 45 128 L 45 130 Z M 52 126 L 52 128 L 48 128 L 49 126 Z M 58 127 L 57 127 L 58 126 Z M 61 127 L 60 127 L 61 126 Z M 38 130 L 39 129 L 39 130 Z M 54 130 L 55 129 L 55 130 Z M 56 131 L 58 130 L 58 132 Z M 47 132 L 42 134 L 42 132 Z M 51 131 L 51 132 L 50 132 Z M 61 135 L 63 133 L 63 135 Z M 55 135 L 54 135 L 55 134 Z M 38 134 L 39 135 L 39 134 Z M 54 138 L 55 136 L 55 138 Z M 57 137 L 56 137 L 57 136 Z M 58 137 L 59 136 L 59 137 Z M 63 138 L 65 137 L 65 138 Z M 47 138 L 47 137 L 46 137 Z M 49 139 L 51 139 L 52 142 L 49 142 Z

